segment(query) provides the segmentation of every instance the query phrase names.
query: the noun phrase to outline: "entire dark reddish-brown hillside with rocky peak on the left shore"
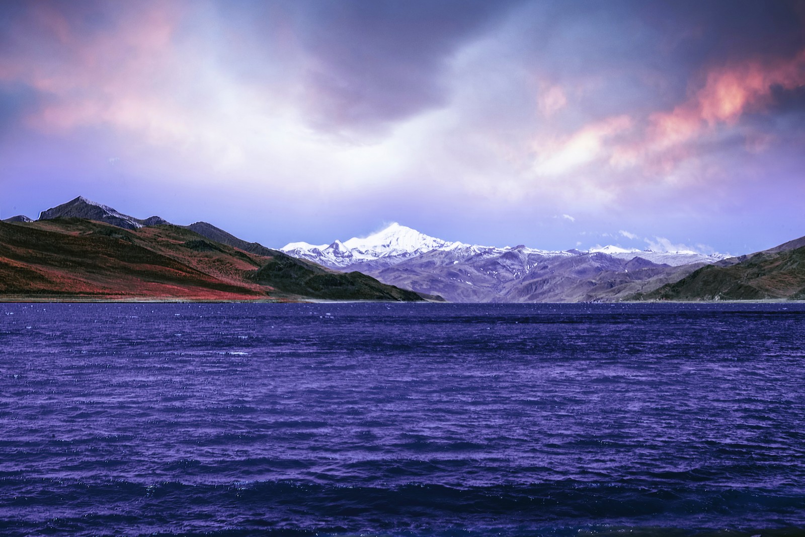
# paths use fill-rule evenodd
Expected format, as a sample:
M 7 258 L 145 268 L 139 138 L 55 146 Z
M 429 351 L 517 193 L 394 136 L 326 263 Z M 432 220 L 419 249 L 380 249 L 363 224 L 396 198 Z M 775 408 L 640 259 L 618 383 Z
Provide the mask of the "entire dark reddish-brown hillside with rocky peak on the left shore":
M 233 237 L 78 197 L 0 223 L 0 299 L 423 300 Z

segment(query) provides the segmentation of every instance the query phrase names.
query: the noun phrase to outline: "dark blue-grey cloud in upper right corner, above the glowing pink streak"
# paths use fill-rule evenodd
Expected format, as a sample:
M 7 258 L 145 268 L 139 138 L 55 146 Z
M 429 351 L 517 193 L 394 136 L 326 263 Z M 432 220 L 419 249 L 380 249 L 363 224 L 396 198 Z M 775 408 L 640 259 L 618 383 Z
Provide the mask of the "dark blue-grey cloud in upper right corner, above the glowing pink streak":
M 672 107 L 711 68 L 805 48 L 805 2 L 527 2 L 512 19 L 510 47 L 540 76 L 597 78 L 583 107 L 600 115 Z

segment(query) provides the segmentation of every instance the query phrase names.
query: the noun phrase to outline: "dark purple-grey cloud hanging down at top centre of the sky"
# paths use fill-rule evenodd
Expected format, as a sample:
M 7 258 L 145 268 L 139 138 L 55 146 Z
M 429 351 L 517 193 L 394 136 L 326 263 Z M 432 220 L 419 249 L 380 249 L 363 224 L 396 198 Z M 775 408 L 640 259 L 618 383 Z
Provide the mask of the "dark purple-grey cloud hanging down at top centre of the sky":
M 443 105 L 448 60 L 514 2 L 345 0 L 242 4 L 265 50 L 291 31 L 306 60 L 304 100 L 323 130 L 375 130 Z M 256 7 L 256 10 L 254 10 Z M 290 26 L 290 28 L 289 28 Z M 281 28 L 282 27 L 282 28 Z

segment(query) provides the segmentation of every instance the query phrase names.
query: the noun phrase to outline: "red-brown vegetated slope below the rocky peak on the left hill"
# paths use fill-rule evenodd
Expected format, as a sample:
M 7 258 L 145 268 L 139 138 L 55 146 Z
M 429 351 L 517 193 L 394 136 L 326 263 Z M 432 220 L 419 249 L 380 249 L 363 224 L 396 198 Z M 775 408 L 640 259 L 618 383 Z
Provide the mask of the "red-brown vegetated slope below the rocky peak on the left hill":
M 217 259 L 200 255 L 192 263 L 183 262 L 183 258 L 186 261 L 193 256 L 182 255 L 181 237 L 171 238 L 170 233 L 156 237 L 151 229 L 139 231 L 71 220 L 48 221 L 44 225 L 0 224 L 0 294 L 118 299 L 267 298 L 264 287 L 203 270 L 204 266 L 217 264 L 220 271 L 229 271 L 233 266 L 245 272 L 248 263 L 237 259 L 237 255 L 231 263 L 225 261 L 226 252 Z

